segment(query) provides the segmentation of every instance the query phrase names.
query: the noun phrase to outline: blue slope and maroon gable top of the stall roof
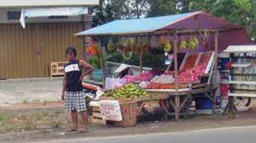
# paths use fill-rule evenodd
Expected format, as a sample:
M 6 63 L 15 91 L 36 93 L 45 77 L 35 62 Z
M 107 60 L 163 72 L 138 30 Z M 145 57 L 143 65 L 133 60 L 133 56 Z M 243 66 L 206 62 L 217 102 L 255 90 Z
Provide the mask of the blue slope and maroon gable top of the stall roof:
M 76 36 L 104 36 L 122 34 L 144 34 L 157 30 L 196 30 L 241 28 L 226 20 L 222 20 L 202 11 L 161 16 L 154 18 L 141 18 L 132 20 L 115 20 L 102 26 L 86 30 Z

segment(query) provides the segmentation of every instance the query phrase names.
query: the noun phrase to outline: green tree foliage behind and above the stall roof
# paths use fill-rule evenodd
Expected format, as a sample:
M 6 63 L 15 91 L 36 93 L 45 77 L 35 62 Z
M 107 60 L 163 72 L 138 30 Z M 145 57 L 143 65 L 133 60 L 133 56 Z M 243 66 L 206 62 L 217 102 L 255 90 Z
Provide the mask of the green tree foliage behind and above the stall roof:
M 93 26 L 116 19 L 201 10 L 244 26 L 252 37 L 256 36 L 256 0 L 100 0 L 100 5 L 94 7 Z

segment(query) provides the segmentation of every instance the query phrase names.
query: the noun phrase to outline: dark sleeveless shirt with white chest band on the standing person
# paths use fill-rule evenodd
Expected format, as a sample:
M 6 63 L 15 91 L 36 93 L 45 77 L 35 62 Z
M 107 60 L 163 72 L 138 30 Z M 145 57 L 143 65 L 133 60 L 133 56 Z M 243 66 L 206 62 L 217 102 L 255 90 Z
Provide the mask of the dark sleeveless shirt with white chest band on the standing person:
M 82 70 L 80 69 L 79 61 L 73 60 L 64 66 L 67 77 L 66 91 L 82 91 L 82 81 L 79 81 Z

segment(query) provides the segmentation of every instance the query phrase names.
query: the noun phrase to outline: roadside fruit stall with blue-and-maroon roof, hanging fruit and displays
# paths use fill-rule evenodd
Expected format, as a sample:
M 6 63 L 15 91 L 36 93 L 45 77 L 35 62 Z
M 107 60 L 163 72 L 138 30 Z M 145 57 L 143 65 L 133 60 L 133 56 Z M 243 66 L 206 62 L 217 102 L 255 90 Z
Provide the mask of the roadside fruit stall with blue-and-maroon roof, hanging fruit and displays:
M 133 118 L 128 117 L 128 120 L 133 121 L 144 107 L 145 101 L 155 100 L 162 106 L 167 116 L 174 115 L 175 121 L 178 121 L 182 109 L 187 107 L 192 97 L 198 93 L 204 93 L 212 100 L 214 115 L 216 89 L 219 87 L 217 53 L 218 50 L 223 50 L 223 47 L 218 47 L 218 41 L 219 39 L 225 41 L 226 34 L 232 34 L 232 30 L 235 29 L 238 30 L 234 31 L 235 33 L 244 31 L 240 26 L 204 12 L 192 12 L 156 18 L 116 20 L 80 32 L 76 36 L 92 37 L 98 41 L 100 55 L 103 52 L 102 39 L 109 38 L 108 45 L 105 46 L 109 51 L 121 51 L 124 59 L 129 59 L 132 54 L 138 54 L 141 71 L 144 53 L 151 52 L 153 48 L 163 50 L 168 56 L 166 69 L 142 71 L 139 75 L 127 75 L 122 79 L 102 77 L 106 83 L 104 85 L 106 90 L 101 99 L 118 100 L 122 116 L 130 115 L 129 117 Z M 240 42 L 248 42 L 248 39 L 242 36 Z M 227 43 L 220 44 L 224 46 Z M 232 41 L 228 44 L 232 44 Z M 178 54 L 185 56 L 180 57 Z M 103 61 L 101 57 L 102 72 Z M 114 86 L 115 83 L 118 83 L 118 87 Z M 137 108 L 134 108 L 135 102 Z M 123 104 L 125 106 L 121 107 Z M 110 108 L 112 107 L 114 103 L 111 103 Z M 119 115 L 109 117 L 117 119 Z M 121 126 L 129 125 L 124 124 Z M 134 122 L 130 122 L 130 125 L 133 124 Z

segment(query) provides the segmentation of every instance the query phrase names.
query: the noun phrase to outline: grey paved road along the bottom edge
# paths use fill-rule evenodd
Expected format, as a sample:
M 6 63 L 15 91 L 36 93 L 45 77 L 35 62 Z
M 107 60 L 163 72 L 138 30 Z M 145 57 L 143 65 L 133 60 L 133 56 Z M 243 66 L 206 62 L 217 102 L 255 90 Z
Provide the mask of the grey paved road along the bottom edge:
M 255 135 L 256 126 L 247 126 L 147 135 L 55 140 L 47 141 L 47 143 L 255 143 Z

